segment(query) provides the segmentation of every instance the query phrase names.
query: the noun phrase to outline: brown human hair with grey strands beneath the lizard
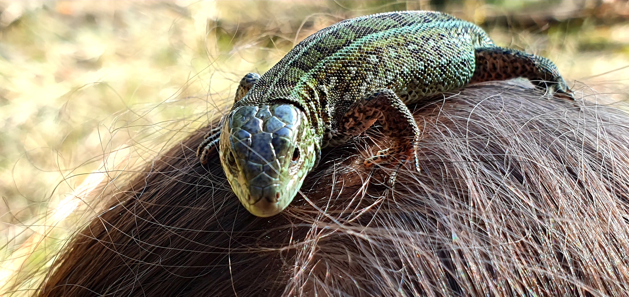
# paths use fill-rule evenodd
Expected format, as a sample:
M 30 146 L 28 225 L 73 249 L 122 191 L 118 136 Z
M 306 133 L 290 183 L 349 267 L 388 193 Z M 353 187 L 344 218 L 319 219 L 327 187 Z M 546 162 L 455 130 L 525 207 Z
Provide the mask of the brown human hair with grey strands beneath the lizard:
M 323 151 L 270 218 L 191 134 L 112 195 L 36 296 L 629 295 L 626 114 L 514 84 L 411 110 L 420 173 L 388 186 L 362 167 L 376 127 Z

